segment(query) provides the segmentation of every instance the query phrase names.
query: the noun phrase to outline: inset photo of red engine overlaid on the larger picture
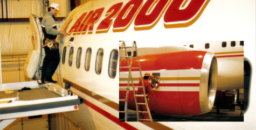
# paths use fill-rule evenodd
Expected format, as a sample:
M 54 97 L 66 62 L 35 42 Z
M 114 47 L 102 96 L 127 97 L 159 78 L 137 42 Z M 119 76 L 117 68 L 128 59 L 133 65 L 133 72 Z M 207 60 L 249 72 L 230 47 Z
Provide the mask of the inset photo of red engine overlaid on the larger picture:
M 244 121 L 244 41 L 120 41 L 119 121 Z

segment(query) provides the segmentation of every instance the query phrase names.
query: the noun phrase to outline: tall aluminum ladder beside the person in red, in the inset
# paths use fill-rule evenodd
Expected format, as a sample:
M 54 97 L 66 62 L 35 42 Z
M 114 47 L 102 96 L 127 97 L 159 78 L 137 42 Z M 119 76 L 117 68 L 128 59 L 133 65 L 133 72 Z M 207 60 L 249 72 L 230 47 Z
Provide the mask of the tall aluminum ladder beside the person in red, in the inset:
M 122 50 L 123 49 L 125 51 L 126 56 L 122 56 Z M 127 53 L 126 49 L 132 49 L 131 56 L 128 56 L 128 53 Z M 140 67 L 139 56 L 135 56 L 134 57 L 134 55 L 133 55 L 134 54 L 134 49 L 138 53 L 138 51 L 137 51 L 137 44 L 136 44 L 135 41 L 133 42 L 133 46 L 132 47 L 126 47 L 126 44 L 124 42 L 122 42 L 121 52 L 119 54 L 119 75 L 120 75 L 120 69 L 121 68 L 128 68 L 129 69 L 129 74 L 128 74 L 127 78 L 119 78 L 119 79 L 128 79 L 127 88 L 120 88 L 119 87 L 119 90 L 125 90 L 125 89 L 127 90 L 126 91 L 126 99 L 119 99 L 119 101 L 125 102 L 124 111 L 119 111 L 119 112 L 125 113 L 125 121 L 127 121 L 128 95 L 129 95 L 129 90 L 130 90 L 130 86 L 129 85 L 130 85 L 130 81 L 131 81 L 132 82 L 132 88 L 133 88 L 133 95 L 134 95 L 135 104 L 136 104 L 137 121 L 141 120 L 141 121 L 151 121 L 151 122 L 153 122 L 151 114 L 150 114 L 150 111 L 149 111 L 149 107 L 148 107 L 147 95 L 146 95 L 146 92 L 145 92 L 145 88 L 143 87 L 144 83 L 143 83 L 143 77 L 142 77 L 142 72 L 141 72 L 141 67 Z M 132 67 L 133 58 L 137 59 L 139 67 Z M 121 59 L 126 59 L 127 60 L 127 64 L 128 64 L 127 67 L 121 67 Z M 129 63 L 129 60 L 130 60 L 130 63 Z M 133 77 L 132 76 L 132 69 L 139 69 L 140 70 L 140 77 Z M 141 82 L 142 82 L 142 86 L 134 86 L 133 78 L 140 78 Z M 136 95 L 135 88 L 143 88 L 144 95 Z M 138 103 L 136 97 L 144 97 L 145 103 Z M 138 105 L 146 105 L 147 111 L 139 111 L 138 110 Z M 150 119 L 139 119 L 139 113 L 148 113 Z

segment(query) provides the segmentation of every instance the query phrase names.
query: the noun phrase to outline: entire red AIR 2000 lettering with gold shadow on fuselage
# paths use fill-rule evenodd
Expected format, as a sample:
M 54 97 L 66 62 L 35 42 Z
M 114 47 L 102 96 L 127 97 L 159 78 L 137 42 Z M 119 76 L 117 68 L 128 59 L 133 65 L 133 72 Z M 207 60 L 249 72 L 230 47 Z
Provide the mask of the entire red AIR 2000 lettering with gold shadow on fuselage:
M 135 31 L 150 30 L 158 23 L 163 14 L 165 28 L 188 27 L 195 23 L 209 1 L 147 0 L 143 5 L 143 0 L 131 0 L 123 8 L 122 2 L 117 3 L 108 9 L 106 18 L 100 22 L 96 28 L 96 33 L 107 33 L 113 22 L 113 32 L 126 31 L 136 14 L 138 15 L 134 20 Z M 81 34 L 81 32 L 85 34 L 87 30 L 91 34 L 93 26 L 100 19 L 103 10 L 104 8 L 100 8 L 83 13 L 68 31 L 68 34 L 70 35 L 72 32 L 74 32 L 73 34 Z

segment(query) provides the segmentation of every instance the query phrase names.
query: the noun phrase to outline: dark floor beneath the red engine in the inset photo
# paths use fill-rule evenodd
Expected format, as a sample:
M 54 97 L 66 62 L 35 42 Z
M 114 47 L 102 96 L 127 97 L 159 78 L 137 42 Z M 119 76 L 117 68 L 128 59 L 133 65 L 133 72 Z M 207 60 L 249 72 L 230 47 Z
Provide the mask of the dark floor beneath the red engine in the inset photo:
M 244 121 L 244 111 L 240 117 L 240 107 L 236 111 L 220 109 L 219 114 L 216 110 L 200 115 L 160 115 L 151 114 L 153 121 Z M 124 119 L 119 120 L 124 121 Z M 137 121 L 136 111 L 128 110 L 128 121 Z

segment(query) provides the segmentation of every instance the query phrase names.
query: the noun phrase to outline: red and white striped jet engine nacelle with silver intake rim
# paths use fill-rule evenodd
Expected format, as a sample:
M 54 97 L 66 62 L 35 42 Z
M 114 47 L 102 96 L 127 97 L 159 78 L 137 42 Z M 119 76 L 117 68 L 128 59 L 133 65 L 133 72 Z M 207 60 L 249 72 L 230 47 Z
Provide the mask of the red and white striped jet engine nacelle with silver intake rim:
M 159 88 L 149 94 L 149 109 L 157 114 L 195 115 L 212 110 L 217 88 L 217 60 L 210 52 L 185 51 L 139 56 L 142 75 L 148 72 L 160 77 Z M 128 60 L 130 62 L 130 60 Z M 127 60 L 121 60 L 121 67 Z M 133 59 L 133 67 L 139 67 Z M 120 78 L 128 77 L 127 68 L 120 69 Z M 132 69 L 132 76 L 139 77 L 139 69 Z M 139 86 L 139 78 L 134 78 Z M 127 79 L 120 79 L 120 88 L 127 87 Z M 128 109 L 136 110 L 132 82 L 130 82 Z M 137 89 L 136 93 L 137 93 Z M 126 90 L 119 91 L 124 99 Z M 124 107 L 124 102 L 120 102 Z

